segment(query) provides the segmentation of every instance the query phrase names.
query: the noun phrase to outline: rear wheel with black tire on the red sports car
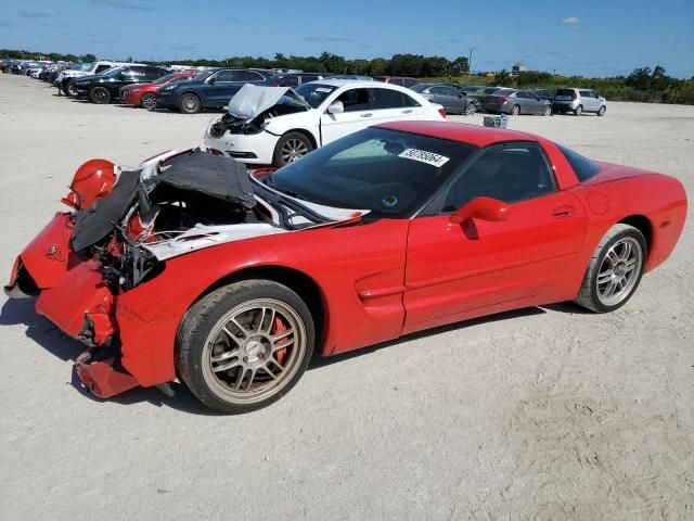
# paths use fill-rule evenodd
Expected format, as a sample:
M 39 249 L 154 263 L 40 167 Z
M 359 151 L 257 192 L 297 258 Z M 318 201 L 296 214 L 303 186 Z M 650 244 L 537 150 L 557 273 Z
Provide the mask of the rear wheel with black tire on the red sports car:
M 595 313 L 624 306 L 641 282 L 646 253 L 640 230 L 613 226 L 595 247 L 575 302 Z

